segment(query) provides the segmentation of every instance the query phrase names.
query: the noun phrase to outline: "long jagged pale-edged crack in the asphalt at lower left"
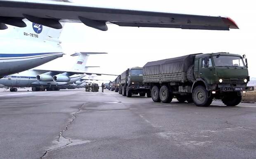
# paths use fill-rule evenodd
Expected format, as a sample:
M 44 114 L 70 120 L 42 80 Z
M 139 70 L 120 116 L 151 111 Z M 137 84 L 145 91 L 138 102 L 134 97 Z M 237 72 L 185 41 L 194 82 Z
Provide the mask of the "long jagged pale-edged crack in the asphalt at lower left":
M 66 144 L 45 151 L 45 153 L 43 154 L 42 157 L 40 157 L 40 159 L 43 159 L 44 157 L 46 157 L 47 154 L 48 154 L 49 152 L 51 152 L 51 151 L 59 150 L 59 149 L 61 149 L 61 148 L 64 148 L 64 147 L 70 145 L 71 143 L 73 143 L 73 141 L 71 141 L 71 138 L 68 138 L 68 137 L 63 136 L 63 132 L 64 132 L 64 131 L 67 131 L 67 130 L 69 129 L 69 126 L 70 126 L 70 125 L 72 124 L 72 122 L 76 119 L 76 114 L 81 111 L 81 109 L 82 109 L 83 106 L 85 106 L 85 104 L 81 105 L 81 106 L 78 108 L 78 111 L 73 112 L 73 113 L 71 114 L 71 115 L 72 115 L 72 118 L 69 120 L 69 123 L 66 124 L 65 129 L 63 129 L 62 131 L 59 132 L 59 137 L 58 137 L 58 139 L 57 139 L 57 143 L 63 142 L 63 141 L 61 141 L 61 140 L 66 140 L 66 141 L 65 141 Z

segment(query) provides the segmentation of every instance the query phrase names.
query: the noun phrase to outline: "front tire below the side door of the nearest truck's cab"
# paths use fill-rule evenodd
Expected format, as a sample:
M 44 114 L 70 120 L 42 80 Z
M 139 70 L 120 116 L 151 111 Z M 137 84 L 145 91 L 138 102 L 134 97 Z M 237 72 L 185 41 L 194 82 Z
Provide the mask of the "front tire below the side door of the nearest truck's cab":
M 198 85 L 192 92 L 192 98 L 196 106 L 209 106 L 213 101 L 212 97 L 208 97 L 207 90 L 204 86 Z

